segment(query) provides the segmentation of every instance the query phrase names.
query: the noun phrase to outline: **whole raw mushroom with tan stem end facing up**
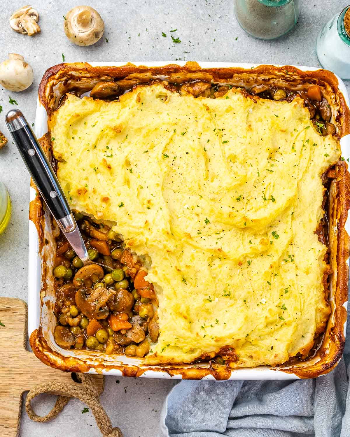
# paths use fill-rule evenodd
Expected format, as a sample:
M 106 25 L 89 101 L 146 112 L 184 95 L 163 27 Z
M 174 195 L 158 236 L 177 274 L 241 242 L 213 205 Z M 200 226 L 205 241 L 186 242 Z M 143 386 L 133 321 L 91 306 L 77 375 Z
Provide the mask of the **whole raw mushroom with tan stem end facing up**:
M 102 37 L 105 24 L 100 14 L 90 6 L 73 7 L 64 21 L 67 38 L 77 45 L 92 45 Z

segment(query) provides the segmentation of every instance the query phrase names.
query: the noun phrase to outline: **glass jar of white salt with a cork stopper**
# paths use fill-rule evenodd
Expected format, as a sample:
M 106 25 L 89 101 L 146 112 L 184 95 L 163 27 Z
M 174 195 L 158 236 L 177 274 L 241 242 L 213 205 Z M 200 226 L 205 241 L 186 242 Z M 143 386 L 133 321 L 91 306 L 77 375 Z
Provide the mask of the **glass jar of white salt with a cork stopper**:
M 350 5 L 323 26 L 316 40 L 316 54 L 323 68 L 350 79 Z

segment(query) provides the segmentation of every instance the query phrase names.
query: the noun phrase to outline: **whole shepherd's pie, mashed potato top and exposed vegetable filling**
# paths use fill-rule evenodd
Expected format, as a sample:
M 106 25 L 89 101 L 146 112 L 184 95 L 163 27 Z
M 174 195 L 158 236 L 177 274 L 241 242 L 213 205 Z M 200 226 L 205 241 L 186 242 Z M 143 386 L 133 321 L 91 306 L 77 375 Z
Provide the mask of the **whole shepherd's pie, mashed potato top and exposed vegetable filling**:
M 340 149 L 317 85 L 262 87 L 155 81 L 52 112 L 57 176 L 114 268 L 80 269 L 58 238 L 60 346 L 231 368 L 308 356 L 330 313 L 322 181 Z

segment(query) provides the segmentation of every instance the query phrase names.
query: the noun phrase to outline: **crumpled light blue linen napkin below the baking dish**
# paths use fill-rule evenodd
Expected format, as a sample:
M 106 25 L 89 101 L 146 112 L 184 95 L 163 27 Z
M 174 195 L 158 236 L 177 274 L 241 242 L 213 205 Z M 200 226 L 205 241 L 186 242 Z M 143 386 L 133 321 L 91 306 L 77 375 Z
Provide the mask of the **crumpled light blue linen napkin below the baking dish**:
M 344 357 L 296 381 L 181 381 L 161 411 L 159 437 L 350 437 L 350 316 Z

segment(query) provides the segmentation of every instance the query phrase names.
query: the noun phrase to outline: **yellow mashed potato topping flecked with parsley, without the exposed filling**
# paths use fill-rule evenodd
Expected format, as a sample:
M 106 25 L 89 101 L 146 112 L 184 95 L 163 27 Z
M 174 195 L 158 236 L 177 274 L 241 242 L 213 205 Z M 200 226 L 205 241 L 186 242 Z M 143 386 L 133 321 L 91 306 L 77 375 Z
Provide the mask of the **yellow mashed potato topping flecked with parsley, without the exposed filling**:
M 224 347 L 232 367 L 283 363 L 308 353 L 329 315 L 315 229 L 337 141 L 301 98 L 255 100 L 153 84 L 114 102 L 68 94 L 49 120 L 73 210 L 151 258 L 160 336 L 148 364 Z

